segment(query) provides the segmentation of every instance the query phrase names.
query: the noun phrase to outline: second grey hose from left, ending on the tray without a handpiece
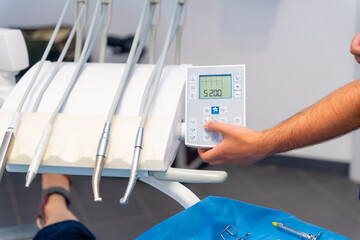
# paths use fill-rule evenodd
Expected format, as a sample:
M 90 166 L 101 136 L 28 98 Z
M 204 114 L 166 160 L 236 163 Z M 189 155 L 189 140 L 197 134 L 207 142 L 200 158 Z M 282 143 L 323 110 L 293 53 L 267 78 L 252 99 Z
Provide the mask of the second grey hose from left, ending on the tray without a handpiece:
M 87 1 L 82 1 L 80 2 L 79 5 L 83 5 L 79 11 L 79 14 L 77 16 L 77 19 L 74 23 L 74 26 L 72 27 L 71 29 L 71 32 L 69 34 L 69 37 L 68 39 L 66 40 L 66 43 L 65 43 L 65 46 L 63 48 L 63 50 L 61 51 L 61 54 L 60 54 L 60 57 L 58 58 L 58 60 L 56 61 L 56 65 L 55 67 L 53 68 L 49 78 L 46 80 L 45 84 L 42 86 L 41 90 L 40 90 L 40 93 L 37 95 L 36 99 L 35 99 L 35 103 L 33 105 L 33 109 L 32 111 L 33 112 L 36 112 L 39 108 L 39 105 L 40 105 L 40 102 L 46 92 L 46 89 L 49 87 L 51 81 L 54 79 L 56 73 L 59 71 L 60 67 L 61 67 L 61 63 L 63 62 L 64 60 L 64 57 L 69 49 L 69 46 L 71 44 L 71 41 L 75 35 L 75 31 L 77 30 L 77 27 L 80 23 L 80 20 L 83 18 L 84 16 L 84 13 L 85 13 L 85 10 L 86 10 L 86 4 L 87 4 Z

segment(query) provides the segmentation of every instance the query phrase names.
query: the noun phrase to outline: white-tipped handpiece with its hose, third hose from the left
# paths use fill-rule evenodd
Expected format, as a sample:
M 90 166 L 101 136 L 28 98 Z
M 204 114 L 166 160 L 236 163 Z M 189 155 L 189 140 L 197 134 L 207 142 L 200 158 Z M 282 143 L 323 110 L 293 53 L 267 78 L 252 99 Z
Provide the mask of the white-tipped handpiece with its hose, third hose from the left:
M 102 8 L 101 13 L 99 12 L 100 5 L 104 5 L 104 7 Z M 97 35 L 98 35 L 99 31 L 100 31 L 100 28 L 101 28 L 101 26 L 103 24 L 103 21 L 104 21 L 104 18 L 106 16 L 107 7 L 108 7 L 108 2 L 107 1 L 105 2 L 105 1 L 99 0 L 97 2 L 97 4 L 96 4 L 94 15 L 93 15 L 91 25 L 90 25 L 90 29 L 89 29 L 89 33 L 88 33 L 88 36 L 86 38 L 84 48 L 83 48 L 83 50 L 81 52 L 79 63 L 76 65 L 75 72 L 73 73 L 72 78 L 71 78 L 71 80 L 70 80 L 64 94 L 62 95 L 62 98 L 60 99 L 58 105 L 56 106 L 55 111 L 53 112 L 49 122 L 47 123 L 47 125 L 46 125 L 46 127 L 45 127 L 45 129 L 43 131 L 43 134 L 41 136 L 39 144 L 38 144 L 38 146 L 37 146 L 37 148 L 35 150 L 34 157 L 33 157 L 32 161 L 30 163 L 28 172 L 26 174 L 25 187 L 30 186 L 31 182 L 34 180 L 34 178 L 35 178 L 35 176 L 36 176 L 36 174 L 38 172 L 38 169 L 40 167 L 42 158 L 44 156 L 44 153 L 46 151 L 47 145 L 48 145 L 49 140 L 50 140 L 51 131 L 52 131 L 53 124 L 55 122 L 56 116 L 60 112 L 61 108 L 63 107 L 68 95 L 70 94 L 74 84 L 76 83 L 77 78 L 79 77 L 81 71 L 83 70 L 83 67 L 84 67 L 86 61 L 90 57 L 90 53 L 91 53 L 91 51 L 92 51 L 92 49 L 94 47 L 96 37 L 97 37 Z M 94 27 L 95 27 L 95 24 L 96 24 L 98 12 L 99 12 L 99 14 L 101 14 L 100 21 L 98 22 L 96 30 L 95 30 L 95 32 L 93 34 L 93 30 L 94 30 Z

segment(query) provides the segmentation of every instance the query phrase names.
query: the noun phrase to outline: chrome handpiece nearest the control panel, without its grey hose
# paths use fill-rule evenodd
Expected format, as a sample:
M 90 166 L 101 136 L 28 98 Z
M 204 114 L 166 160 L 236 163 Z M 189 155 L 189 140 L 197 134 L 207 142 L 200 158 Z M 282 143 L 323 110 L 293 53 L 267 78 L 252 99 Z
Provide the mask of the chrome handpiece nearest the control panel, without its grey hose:
M 134 156 L 131 165 L 131 172 L 128 185 L 126 187 L 126 191 L 124 196 L 120 199 L 120 204 L 126 205 L 129 202 L 130 195 L 135 187 L 137 176 L 139 173 L 139 165 L 140 165 L 140 156 L 142 150 L 142 142 L 144 136 L 144 128 L 139 127 L 136 140 L 135 140 L 135 147 L 134 147 Z

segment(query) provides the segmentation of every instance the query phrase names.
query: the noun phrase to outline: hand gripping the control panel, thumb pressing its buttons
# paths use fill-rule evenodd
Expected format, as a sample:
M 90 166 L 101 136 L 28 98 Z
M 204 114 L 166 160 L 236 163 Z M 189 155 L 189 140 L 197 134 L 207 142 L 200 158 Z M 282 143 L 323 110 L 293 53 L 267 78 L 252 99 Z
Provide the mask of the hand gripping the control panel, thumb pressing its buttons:
M 211 165 L 232 163 L 248 166 L 268 155 L 266 146 L 262 146 L 262 132 L 214 121 L 206 122 L 204 127 L 224 137 L 212 149 L 198 149 L 204 162 Z

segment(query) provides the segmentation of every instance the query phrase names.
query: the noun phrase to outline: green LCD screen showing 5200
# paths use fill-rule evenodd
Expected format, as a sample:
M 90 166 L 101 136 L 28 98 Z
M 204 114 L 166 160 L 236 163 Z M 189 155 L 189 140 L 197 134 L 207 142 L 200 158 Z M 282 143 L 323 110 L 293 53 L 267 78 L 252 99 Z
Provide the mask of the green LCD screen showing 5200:
M 200 99 L 231 98 L 231 75 L 200 75 Z

